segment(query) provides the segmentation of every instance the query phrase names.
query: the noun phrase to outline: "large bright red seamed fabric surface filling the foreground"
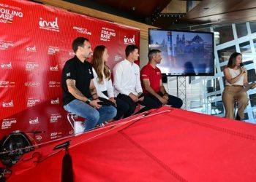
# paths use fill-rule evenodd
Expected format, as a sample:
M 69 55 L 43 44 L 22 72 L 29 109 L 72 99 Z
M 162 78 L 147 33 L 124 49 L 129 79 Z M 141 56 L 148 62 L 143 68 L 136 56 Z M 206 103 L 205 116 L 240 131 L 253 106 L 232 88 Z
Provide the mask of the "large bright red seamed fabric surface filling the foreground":
M 64 140 L 72 141 L 74 180 L 255 181 L 254 124 L 168 109 Z M 24 155 L 8 181 L 61 181 L 64 151 L 48 157 L 54 146 L 37 149 L 30 160 L 33 153 Z M 39 154 L 43 161 L 33 162 Z

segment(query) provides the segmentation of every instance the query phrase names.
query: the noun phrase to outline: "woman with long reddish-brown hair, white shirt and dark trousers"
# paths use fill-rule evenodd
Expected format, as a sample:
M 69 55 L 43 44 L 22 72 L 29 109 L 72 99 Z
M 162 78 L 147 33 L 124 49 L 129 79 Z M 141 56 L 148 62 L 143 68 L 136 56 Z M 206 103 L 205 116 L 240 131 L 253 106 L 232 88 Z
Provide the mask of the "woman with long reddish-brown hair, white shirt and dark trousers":
M 99 45 L 94 48 L 93 55 L 92 71 L 94 73 L 94 85 L 97 90 L 97 95 L 99 95 L 100 98 L 110 100 L 116 105 L 117 114 L 113 119 L 121 119 L 121 116 L 128 111 L 129 106 L 123 100 L 114 98 L 110 68 L 106 65 L 109 58 L 108 49 L 104 45 Z

